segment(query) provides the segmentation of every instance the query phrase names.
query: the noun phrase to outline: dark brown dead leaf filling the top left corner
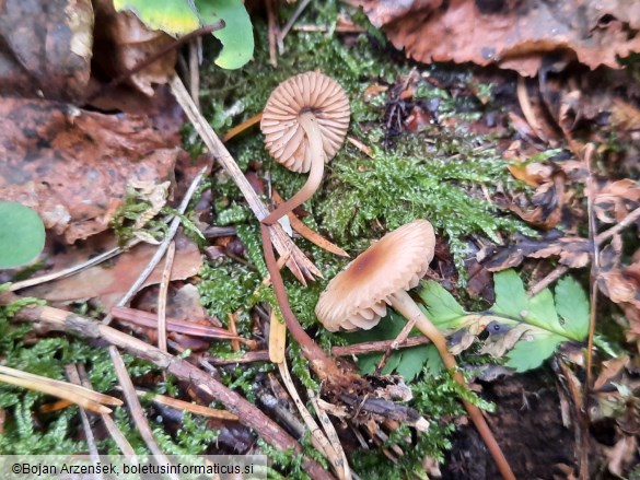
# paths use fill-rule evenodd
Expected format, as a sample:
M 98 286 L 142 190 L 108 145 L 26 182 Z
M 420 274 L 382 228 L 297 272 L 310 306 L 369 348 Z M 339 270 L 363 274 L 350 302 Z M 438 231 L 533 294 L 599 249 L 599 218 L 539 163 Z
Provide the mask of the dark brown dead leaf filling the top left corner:
M 0 8 L 0 94 L 74 102 L 91 73 L 90 0 L 7 0 Z

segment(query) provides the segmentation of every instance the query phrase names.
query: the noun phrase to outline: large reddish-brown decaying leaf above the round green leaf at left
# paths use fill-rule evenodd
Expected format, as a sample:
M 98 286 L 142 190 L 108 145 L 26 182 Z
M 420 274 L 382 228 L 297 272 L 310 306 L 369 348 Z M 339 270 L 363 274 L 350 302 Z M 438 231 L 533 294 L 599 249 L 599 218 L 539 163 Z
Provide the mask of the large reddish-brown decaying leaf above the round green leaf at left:
M 73 243 L 108 229 L 131 179 L 172 179 L 178 149 L 147 118 L 2 98 L 0 198 Z

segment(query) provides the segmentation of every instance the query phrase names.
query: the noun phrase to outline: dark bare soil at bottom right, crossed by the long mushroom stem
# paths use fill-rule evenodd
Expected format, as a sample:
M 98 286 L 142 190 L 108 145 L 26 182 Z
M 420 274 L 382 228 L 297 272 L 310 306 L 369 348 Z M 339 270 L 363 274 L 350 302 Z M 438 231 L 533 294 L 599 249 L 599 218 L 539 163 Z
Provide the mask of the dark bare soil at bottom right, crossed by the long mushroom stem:
M 573 428 L 562 424 L 559 395 L 544 368 L 484 386 L 484 397 L 497 403 L 488 422 L 519 479 L 570 478 L 575 467 Z M 501 478 L 473 426 L 457 432 L 442 470 L 446 480 Z

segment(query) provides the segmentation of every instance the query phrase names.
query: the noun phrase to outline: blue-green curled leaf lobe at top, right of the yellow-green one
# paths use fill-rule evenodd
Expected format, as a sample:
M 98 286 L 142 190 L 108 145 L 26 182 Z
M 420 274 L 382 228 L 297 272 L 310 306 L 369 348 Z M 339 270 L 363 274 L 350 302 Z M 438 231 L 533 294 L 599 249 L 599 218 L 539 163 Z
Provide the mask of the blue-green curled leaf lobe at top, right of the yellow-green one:
M 243 67 L 254 55 L 254 31 L 248 13 L 241 0 L 196 0 L 202 23 L 210 25 L 220 19 L 224 28 L 213 32 L 222 43 L 216 65 L 233 70 Z

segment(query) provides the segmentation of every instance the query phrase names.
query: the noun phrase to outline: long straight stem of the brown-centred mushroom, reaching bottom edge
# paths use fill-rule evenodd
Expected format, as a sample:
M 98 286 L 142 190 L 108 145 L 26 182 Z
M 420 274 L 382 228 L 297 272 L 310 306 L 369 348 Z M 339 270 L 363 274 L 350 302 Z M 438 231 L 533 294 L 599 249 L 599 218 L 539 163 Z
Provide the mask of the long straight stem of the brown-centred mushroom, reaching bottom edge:
M 429 338 L 429 340 L 431 340 L 431 342 L 438 349 L 438 352 L 440 353 L 444 365 L 446 368 L 449 368 L 453 379 L 463 387 L 468 388 L 465 377 L 457 370 L 455 358 L 446 348 L 446 339 L 444 338 L 444 335 L 442 335 L 442 332 L 431 323 L 427 315 L 422 313 L 411 296 L 406 291 L 402 290 L 394 293 L 391 297 L 391 301 L 392 306 L 405 318 L 408 320 L 416 320 L 416 326 L 418 329 L 424 333 L 424 336 L 427 336 L 427 338 Z M 489 448 L 489 452 L 498 465 L 498 469 L 500 470 L 500 473 L 502 473 L 502 477 L 505 480 L 515 480 L 515 476 L 513 475 L 513 471 L 511 471 L 511 467 L 509 466 L 502 449 L 500 449 L 500 445 L 498 445 L 498 442 L 496 442 L 496 437 L 491 433 L 491 430 L 489 429 L 489 425 L 487 424 L 487 421 L 485 420 L 480 409 L 467 400 L 462 399 L 462 402 L 467 413 L 472 418 L 474 425 L 476 425 L 478 433 L 485 441 L 487 448 Z

